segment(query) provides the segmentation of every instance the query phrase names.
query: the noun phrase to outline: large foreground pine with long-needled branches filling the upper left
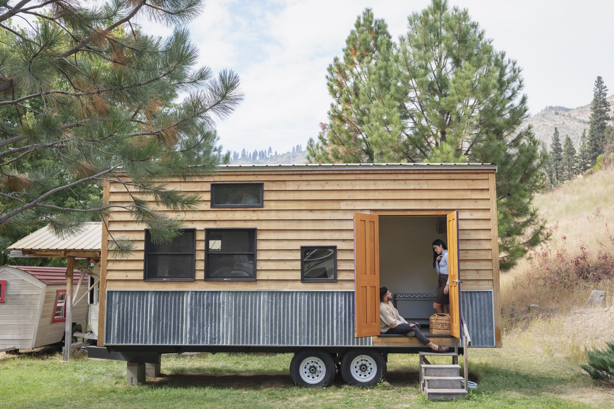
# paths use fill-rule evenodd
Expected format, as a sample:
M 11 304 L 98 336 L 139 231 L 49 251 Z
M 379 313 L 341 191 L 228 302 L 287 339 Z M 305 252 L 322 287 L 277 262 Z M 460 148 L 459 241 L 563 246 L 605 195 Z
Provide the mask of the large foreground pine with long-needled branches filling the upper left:
M 227 117 L 243 98 L 231 71 L 216 77 L 196 67 L 198 52 L 187 24 L 201 0 L 116 0 L 0 4 L 0 107 L 16 121 L 0 122 L 0 234 L 44 220 L 61 237 L 75 234 L 90 215 L 107 214 L 102 197 L 77 196 L 78 186 L 100 190 L 107 179 L 130 183 L 122 205 L 145 224 L 155 242 L 183 226 L 155 212 L 151 194 L 169 210 L 198 208 L 200 196 L 165 185 L 211 175 L 221 161 L 214 118 Z M 10 19 L 37 16 L 23 28 Z M 142 33 L 138 21 L 173 28 L 163 39 Z M 185 97 L 180 97 L 185 96 Z M 33 159 L 42 159 L 36 161 Z M 121 178 L 130 175 L 131 180 Z M 56 197 L 75 193 L 72 203 Z M 114 237 L 110 250 L 127 254 L 133 242 Z M 0 242 L 6 240 L 0 239 Z

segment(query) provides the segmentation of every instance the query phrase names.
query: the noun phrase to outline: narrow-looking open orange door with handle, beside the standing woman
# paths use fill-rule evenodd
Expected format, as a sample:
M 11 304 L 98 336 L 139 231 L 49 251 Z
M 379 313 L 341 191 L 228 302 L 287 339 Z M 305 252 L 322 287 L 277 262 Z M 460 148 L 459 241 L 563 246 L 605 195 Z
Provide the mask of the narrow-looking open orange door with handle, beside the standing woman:
M 461 281 L 459 280 L 459 212 L 448 215 L 448 278 L 450 334 L 461 338 Z

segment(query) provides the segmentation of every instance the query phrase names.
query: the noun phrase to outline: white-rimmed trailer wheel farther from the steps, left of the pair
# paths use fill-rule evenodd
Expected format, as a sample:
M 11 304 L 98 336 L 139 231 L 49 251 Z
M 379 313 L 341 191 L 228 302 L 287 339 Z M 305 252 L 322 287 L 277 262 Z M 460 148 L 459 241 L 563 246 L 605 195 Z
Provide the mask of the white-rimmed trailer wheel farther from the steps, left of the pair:
M 335 378 L 335 362 L 329 353 L 308 348 L 294 354 L 290 362 L 290 377 L 305 388 L 328 386 Z

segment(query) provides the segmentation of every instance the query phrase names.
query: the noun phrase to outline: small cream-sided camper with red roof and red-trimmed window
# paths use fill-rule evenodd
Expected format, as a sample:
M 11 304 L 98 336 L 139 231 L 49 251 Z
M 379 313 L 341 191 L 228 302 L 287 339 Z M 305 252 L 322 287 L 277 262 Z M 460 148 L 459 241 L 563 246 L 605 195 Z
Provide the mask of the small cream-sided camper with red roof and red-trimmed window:
M 80 273 L 75 270 L 76 273 Z M 66 269 L 61 267 L 0 267 L 0 351 L 30 349 L 60 342 L 66 321 Z M 77 286 L 72 322 L 87 326 L 88 279 Z

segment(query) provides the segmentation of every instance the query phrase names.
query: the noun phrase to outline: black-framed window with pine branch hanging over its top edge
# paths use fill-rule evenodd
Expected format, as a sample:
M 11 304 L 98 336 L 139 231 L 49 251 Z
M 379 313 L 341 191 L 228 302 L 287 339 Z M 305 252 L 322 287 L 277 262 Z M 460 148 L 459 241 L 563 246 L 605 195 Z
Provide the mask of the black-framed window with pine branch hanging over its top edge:
M 184 229 L 168 243 L 154 243 L 145 230 L 144 280 L 194 280 L 196 229 Z

